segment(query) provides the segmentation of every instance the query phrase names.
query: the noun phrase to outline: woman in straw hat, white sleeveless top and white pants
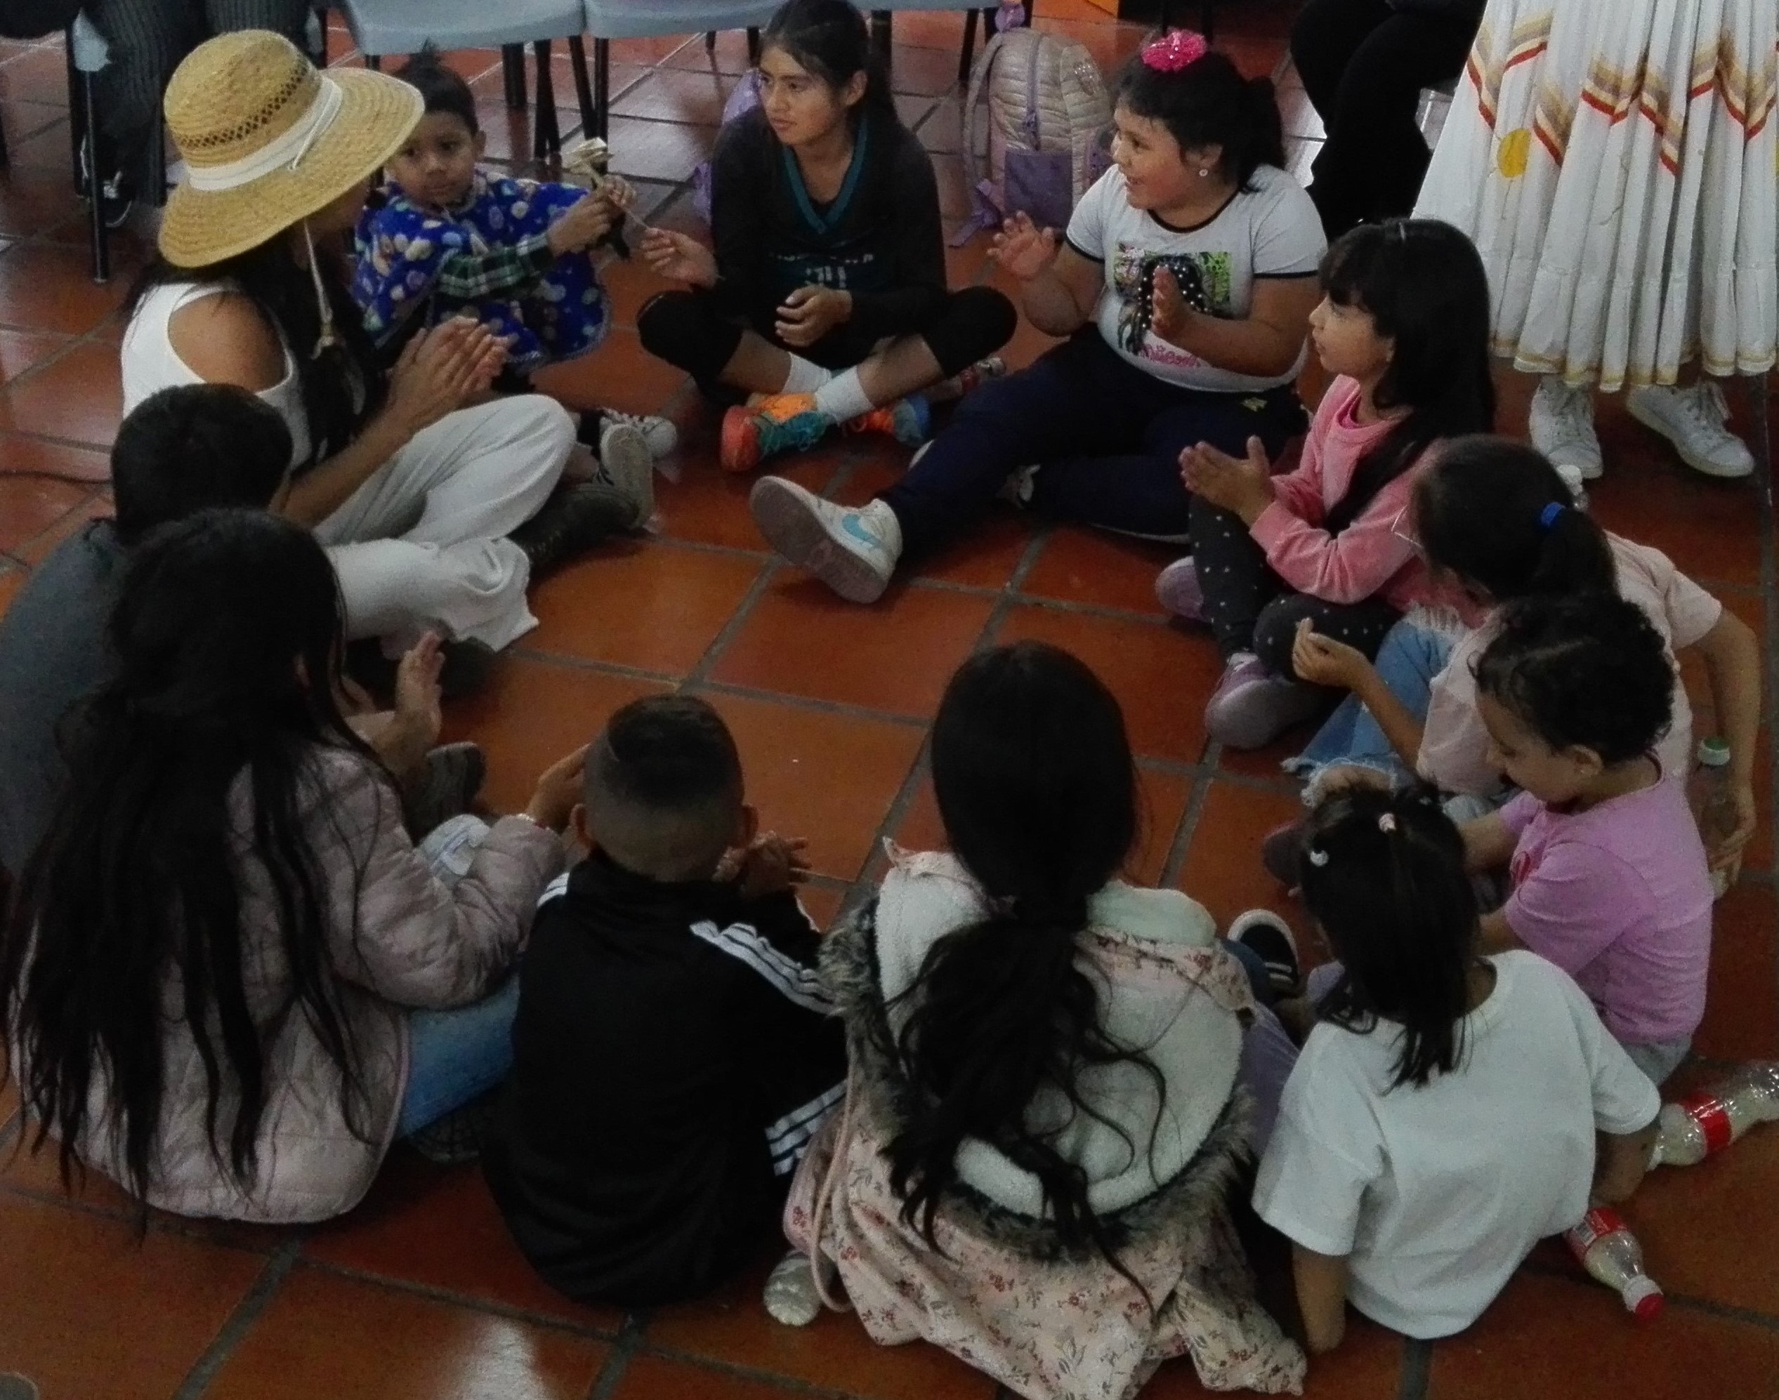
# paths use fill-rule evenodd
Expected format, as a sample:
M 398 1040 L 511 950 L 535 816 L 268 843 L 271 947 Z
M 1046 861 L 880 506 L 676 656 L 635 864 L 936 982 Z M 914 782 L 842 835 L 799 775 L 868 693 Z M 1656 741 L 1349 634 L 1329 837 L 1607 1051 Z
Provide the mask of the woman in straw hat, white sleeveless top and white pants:
M 295 445 L 279 511 L 327 546 L 349 635 L 395 656 L 439 630 L 455 688 L 473 685 L 535 626 L 527 582 L 642 525 L 651 482 L 557 489 L 575 423 L 541 395 L 484 402 L 505 347 L 475 322 L 379 366 L 343 237 L 420 121 L 413 87 L 320 73 L 288 39 L 244 30 L 192 50 L 165 112 L 187 174 L 125 333 L 125 409 L 169 384 L 258 393 Z

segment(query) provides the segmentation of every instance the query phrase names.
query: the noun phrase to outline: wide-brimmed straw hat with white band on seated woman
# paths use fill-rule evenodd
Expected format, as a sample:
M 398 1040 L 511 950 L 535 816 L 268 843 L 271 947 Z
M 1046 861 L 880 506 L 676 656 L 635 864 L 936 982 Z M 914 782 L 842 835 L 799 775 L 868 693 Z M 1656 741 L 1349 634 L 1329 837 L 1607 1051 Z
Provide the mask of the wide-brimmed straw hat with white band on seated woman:
M 374 174 L 425 101 L 397 78 L 318 73 L 281 34 L 240 30 L 194 48 L 167 84 L 185 178 L 167 196 L 160 251 L 205 267 L 258 247 Z

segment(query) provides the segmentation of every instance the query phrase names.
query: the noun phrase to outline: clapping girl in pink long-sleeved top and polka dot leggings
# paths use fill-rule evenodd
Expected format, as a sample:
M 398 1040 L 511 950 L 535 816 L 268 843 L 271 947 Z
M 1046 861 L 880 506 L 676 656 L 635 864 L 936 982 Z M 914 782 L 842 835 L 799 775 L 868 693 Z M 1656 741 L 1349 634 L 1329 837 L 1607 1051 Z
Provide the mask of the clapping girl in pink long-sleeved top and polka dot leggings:
M 1494 423 L 1489 281 L 1469 240 L 1430 219 L 1356 228 L 1322 260 L 1309 340 L 1336 375 L 1302 464 L 1270 475 L 1249 439 L 1238 461 L 1208 443 L 1179 466 L 1192 557 L 1163 569 L 1169 612 L 1208 623 L 1224 658 L 1204 728 L 1258 749 L 1329 703 L 1293 669 L 1299 623 L 1364 656 L 1429 592 L 1402 530 L 1414 479 L 1443 438 Z

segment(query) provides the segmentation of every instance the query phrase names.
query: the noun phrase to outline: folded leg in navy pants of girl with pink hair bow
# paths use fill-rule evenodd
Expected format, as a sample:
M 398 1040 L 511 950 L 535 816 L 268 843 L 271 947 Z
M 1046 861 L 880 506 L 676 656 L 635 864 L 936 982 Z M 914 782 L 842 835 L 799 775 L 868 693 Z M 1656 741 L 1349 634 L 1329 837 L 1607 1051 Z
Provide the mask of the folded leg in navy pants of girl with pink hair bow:
M 1179 454 L 1210 443 L 1235 457 L 1260 438 L 1277 457 L 1304 430 L 1297 390 L 1258 395 L 1174 390 L 1176 402 L 1149 420 L 1142 450 L 1124 457 L 1071 457 L 1046 463 L 1032 482 L 1030 505 L 1051 519 L 1098 525 L 1124 535 L 1185 541 L 1192 493 L 1179 479 Z

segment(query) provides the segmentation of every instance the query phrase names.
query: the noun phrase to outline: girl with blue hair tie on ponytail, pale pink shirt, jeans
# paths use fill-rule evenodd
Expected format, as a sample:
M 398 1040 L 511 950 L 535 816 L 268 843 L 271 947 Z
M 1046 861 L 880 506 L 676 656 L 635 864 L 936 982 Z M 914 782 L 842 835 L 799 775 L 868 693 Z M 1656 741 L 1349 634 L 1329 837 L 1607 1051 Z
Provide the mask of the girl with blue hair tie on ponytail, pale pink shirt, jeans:
M 1414 770 L 1446 793 L 1494 806 L 1503 779 L 1489 761 L 1473 672 L 1494 635 L 1496 612 L 1519 598 L 1610 589 L 1647 614 L 1670 655 L 1697 649 L 1704 662 L 1719 733 L 1729 740 L 1738 815 L 1736 829 L 1711 850 L 1711 865 L 1735 873 L 1756 820 L 1761 662 L 1754 632 L 1660 550 L 1606 534 L 1569 502 L 1557 470 L 1525 443 L 1478 436 L 1443 448 L 1416 484 L 1402 528 L 1434 576 L 1453 585 L 1473 628 L 1437 628 L 1411 614 L 1375 664 L 1329 637 L 1300 642 L 1299 672 L 1352 690 L 1364 706 L 1361 715 L 1336 713 L 1304 752 L 1299 767 L 1311 776 L 1309 797 L 1352 781 L 1354 768 L 1389 781 Z M 1674 724 L 1656 752 L 1667 772 L 1686 772 L 1692 763 L 1692 710 L 1679 680 Z M 1290 838 L 1281 829 L 1268 841 L 1268 868 L 1283 875 Z

